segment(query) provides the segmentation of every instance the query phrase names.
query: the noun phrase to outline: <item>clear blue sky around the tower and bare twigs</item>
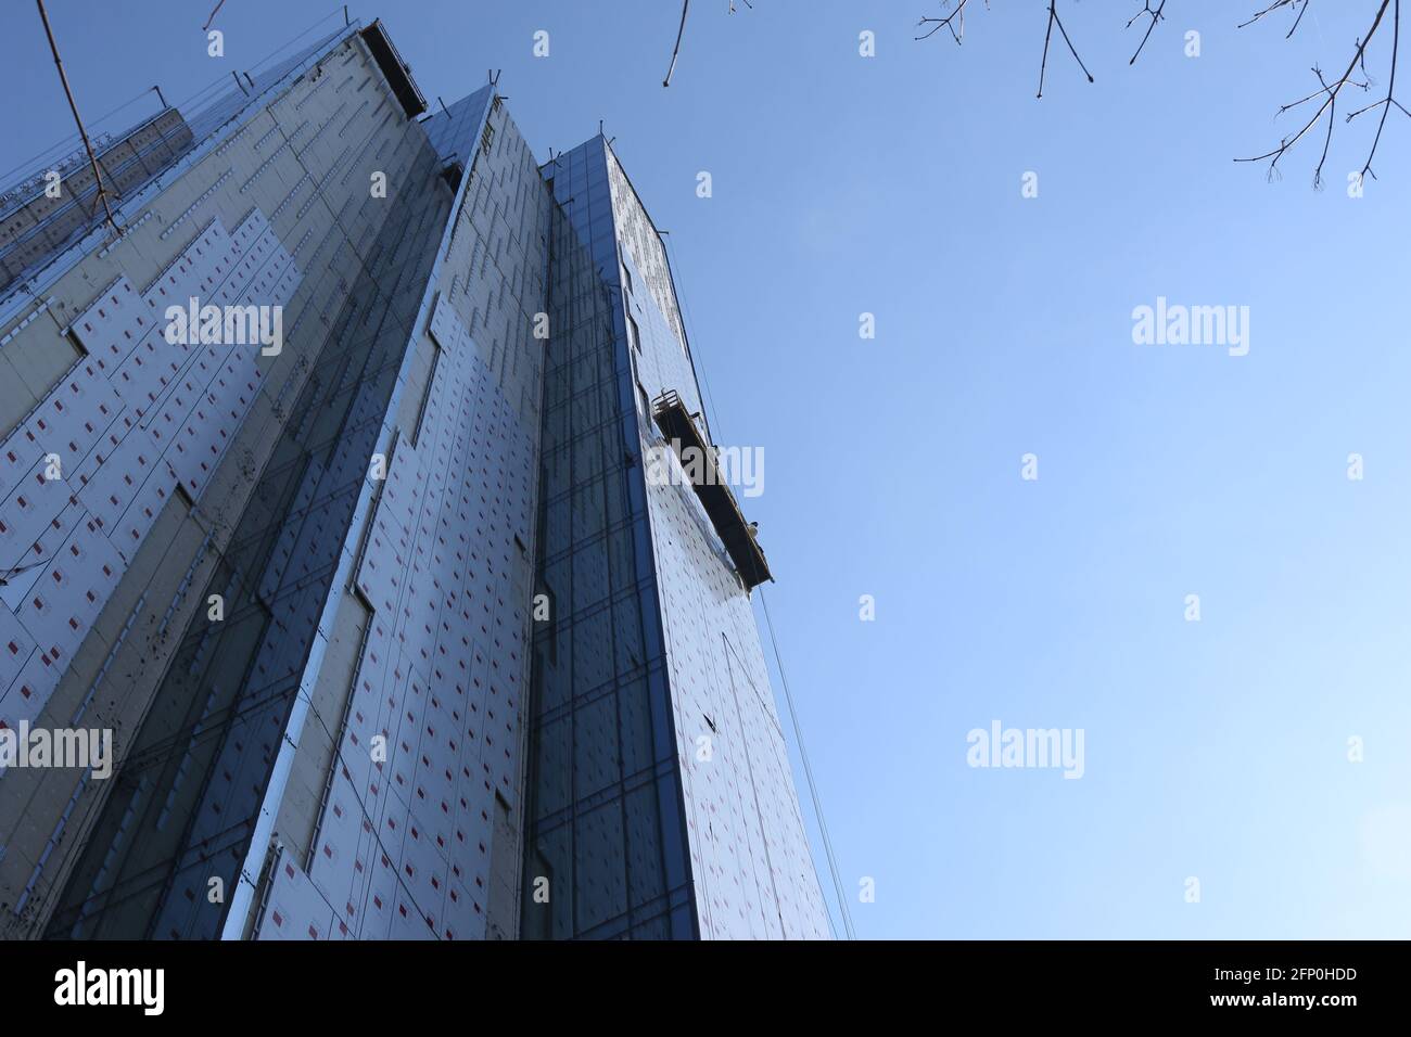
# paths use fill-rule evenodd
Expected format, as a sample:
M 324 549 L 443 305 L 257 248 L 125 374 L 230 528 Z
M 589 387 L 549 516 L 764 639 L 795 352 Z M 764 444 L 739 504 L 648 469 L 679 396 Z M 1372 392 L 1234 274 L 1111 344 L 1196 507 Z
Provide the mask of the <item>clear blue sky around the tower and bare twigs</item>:
M 1235 30 L 1259 0 L 1175 0 L 1129 68 L 1140 4 L 1064 3 L 1096 83 L 1055 42 L 1043 100 L 1044 6 L 972 6 L 957 48 L 912 40 L 935 0 L 697 0 L 669 90 L 676 3 L 353 13 L 429 97 L 504 69 L 542 158 L 605 120 L 670 231 L 717 437 L 765 447 L 746 505 L 861 935 L 1411 935 L 1411 119 L 1360 199 L 1374 114 L 1339 114 L 1324 192 L 1322 130 L 1281 182 L 1230 161 L 1297 126 L 1274 111 L 1373 4 L 1285 41 Z M 217 63 L 206 4 L 49 3 L 93 116 L 330 7 L 226 0 Z M 4 24 L 8 169 L 72 126 L 32 4 Z M 1133 344 L 1157 296 L 1249 306 L 1249 356 Z M 1082 728 L 1084 777 L 967 766 L 992 720 Z

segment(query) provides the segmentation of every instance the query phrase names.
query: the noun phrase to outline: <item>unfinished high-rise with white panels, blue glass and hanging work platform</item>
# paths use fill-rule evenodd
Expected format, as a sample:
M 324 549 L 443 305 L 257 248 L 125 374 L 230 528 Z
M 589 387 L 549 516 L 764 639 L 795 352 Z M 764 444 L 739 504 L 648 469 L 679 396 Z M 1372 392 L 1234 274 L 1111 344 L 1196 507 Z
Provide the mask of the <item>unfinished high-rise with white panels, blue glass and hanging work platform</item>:
M 0 199 L 0 746 L 113 745 L 0 935 L 828 934 L 662 237 L 426 107 L 353 24 Z

